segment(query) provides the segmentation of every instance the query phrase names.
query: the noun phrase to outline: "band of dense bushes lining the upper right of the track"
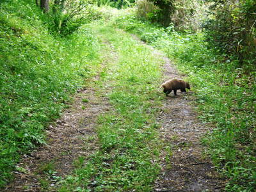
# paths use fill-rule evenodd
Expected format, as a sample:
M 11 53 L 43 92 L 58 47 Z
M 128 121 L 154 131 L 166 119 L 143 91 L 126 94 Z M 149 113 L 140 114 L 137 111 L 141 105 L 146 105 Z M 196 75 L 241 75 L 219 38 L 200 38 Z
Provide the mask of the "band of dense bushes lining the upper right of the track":
M 240 65 L 256 63 L 256 1 L 139 0 L 137 15 L 179 31 L 205 31 L 205 41 Z M 250 68 L 250 67 L 249 67 Z

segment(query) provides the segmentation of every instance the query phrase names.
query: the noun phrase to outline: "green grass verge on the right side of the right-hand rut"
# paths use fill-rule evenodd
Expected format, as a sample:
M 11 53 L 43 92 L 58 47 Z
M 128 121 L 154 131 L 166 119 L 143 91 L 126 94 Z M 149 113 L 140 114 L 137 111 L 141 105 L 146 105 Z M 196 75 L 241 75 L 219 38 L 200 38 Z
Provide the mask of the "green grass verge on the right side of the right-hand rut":
M 216 127 L 205 138 L 214 163 L 229 178 L 227 191 L 256 188 L 256 72 L 220 52 L 208 49 L 204 34 L 180 34 L 134 15 L 117 18 L 113 26 L 138 35 L 162 49 L 188 74 L 201 118 Z

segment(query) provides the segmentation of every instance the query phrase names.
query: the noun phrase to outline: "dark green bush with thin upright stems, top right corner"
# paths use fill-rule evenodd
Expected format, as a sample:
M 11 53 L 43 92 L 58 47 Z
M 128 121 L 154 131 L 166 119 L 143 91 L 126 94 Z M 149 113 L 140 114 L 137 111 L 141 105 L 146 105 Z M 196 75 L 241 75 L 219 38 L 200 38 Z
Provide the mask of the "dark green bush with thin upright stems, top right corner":
M 213 1 L 207 40 L 245 65 L 256 64 L 256 1 Z

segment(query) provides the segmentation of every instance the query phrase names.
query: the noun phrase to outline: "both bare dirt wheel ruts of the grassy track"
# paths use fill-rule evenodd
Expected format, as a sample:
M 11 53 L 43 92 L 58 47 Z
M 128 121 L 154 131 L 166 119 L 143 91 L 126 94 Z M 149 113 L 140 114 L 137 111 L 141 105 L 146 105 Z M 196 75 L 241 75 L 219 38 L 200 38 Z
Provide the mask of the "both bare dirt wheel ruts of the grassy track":
M 182 78 L 163 53 L 152 51 L 164 60 L 163 80 Z M 108 60 L 116 60 L 116 57 L 115 52 L 110 52 Z M 4 191 L 54 191 L 58 181 L 74 170 L 74 161 L 79 156 L 86 158 L 99 148 L 95 133 L 97 116 L 111 109 L 108 99 L 97 94 L 94 83 L 99 78 L 95 76 L 86 88 L 79 90 L 74 104 L 47 130 L 48 145 L 24 156 L 18 164 L 20 171 L 15 172 L 15 180 Z M 211 161 L 203 157 L 204 147 L 200 145 L 200 137 L 210 128 L 196 118 L 189 104 L 190 93 L 170 95 L 165 97 L 163 93 L 158 120 L 163 123 L 160 138 L 170 148 L 172 156 L 167 161 L 166 156 L 170 154 L 161 154 L 161 175 L 154 184 L 154 191 L 220 191 L 223 181 Z

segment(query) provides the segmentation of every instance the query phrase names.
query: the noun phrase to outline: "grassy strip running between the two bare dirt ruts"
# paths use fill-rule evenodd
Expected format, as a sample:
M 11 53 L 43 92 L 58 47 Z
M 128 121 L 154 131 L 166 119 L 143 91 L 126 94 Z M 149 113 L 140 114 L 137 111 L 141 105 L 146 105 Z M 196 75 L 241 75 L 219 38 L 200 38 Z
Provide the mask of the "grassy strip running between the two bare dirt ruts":
M 161 143 L 154 115 L 163 98 L 156 92 L 162 61 L 123 31 L 102 23 L 91 26 L 108 42 L 102 54 L 116 54 L 95 84 L 113 107 L 99 117 L 100 150 L 82 160 L 59 191 L 150 191 L 159 173 Z

